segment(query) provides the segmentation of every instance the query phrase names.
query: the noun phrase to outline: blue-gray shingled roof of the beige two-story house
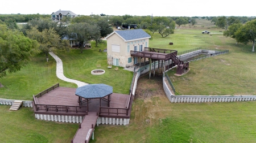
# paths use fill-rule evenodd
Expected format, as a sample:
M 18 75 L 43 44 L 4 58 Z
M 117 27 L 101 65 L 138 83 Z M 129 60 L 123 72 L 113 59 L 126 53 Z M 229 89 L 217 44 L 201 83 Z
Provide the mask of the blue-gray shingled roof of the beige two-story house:
M 151 38 L 151 36 L 147 32 L 144 32 L 142 29 L 114 31 L 114 33 L 117 33 L 125 41 Z

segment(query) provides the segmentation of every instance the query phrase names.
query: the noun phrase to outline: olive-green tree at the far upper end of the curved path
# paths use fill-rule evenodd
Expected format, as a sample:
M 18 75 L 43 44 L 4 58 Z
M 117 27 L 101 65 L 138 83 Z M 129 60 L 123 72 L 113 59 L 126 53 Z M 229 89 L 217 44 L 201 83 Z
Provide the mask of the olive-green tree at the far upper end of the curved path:
M 32 27 L 27 31 L 27 37 L 39 42 L 39 50 L 46 54 L 46 58 L 48 58 L 49 51 L 69 50 L 69 41 L 61 40 L 53 28 L 40 32 L 36 27 Z

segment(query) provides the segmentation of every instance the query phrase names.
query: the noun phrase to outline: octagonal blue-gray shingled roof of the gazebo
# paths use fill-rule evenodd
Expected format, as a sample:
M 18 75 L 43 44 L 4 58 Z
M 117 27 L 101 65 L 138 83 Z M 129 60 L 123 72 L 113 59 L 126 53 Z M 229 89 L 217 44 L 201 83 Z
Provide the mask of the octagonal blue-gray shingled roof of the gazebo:
M 82 98 L 102 98 L 113 93 L 113 87 L 106 84 L 88 84 L 76 89 L 76 96 Z

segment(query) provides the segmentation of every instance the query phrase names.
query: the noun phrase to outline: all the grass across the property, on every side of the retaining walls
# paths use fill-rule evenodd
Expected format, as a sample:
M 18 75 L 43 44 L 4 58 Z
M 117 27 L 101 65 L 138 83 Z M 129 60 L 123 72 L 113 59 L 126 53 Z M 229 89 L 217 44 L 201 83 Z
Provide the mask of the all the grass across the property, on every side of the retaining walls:
M 191 70 L 186 75 L 177 77 L 173 75 L 175 71 L 168 72 L 177 94 L 255 94 L 255 54 L 251 52 L 251 45 L 236 45 L 233 39 L 222 36 L 223 29 L 214 28 L 208 20 L 197 22 L 195 27 L 177 27 L 175 34 L 166 38 L 155 33 L 154 40 L 149 42 L 150 47 L 178 51 L 196 47 L 230 51 L 189 63 Z M 205 30 L 212 36 L 201 34 Z M 168 45 L 169 42 L 174 45 Z M 121 68 L 107 69 L 106 53 L 98 52 L 99 49 L 105 49 L 105 45 L 93 46 L 84 53 L 77 49 L 59 53 L 64 75 L 86 83 L 109 84 L 114 92 L 127 93 L 132 73 Z M 90 75 L 97 64 L 106 70 L 104 76 Z M 32 58 L 21 71 L 1 79 L 5 87 L 0 89 L 0 98 L 31 100 L 32 94 L 56 83 L 76 88 L 75 84 L 57 79 L 55 66 L 51 57 L 49 62 L 44 55 Z M 170 103 L 162 90 L 161 76 L 151 80 L 143 76 L 137 87 L 130 124 L 100 125 L 94 132 L 96 140 L 90 142 L 256 141 L 255 102 Z M 69 142 L 78 128 L 78 124 L 37 120 L 30 108 L 9 111 L 9 107 L 0 106 L 0 142 Z

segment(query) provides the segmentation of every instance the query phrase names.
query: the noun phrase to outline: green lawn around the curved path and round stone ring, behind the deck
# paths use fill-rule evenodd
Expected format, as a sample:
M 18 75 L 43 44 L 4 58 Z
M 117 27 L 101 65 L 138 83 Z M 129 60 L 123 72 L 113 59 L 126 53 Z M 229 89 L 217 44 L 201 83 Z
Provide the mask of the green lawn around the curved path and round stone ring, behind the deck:
M 64 75 L 71 79 L 84 81 L 89 84 L 108 84 L 113 86 L 113 92 L 129 94 L 129 88 L 133 72 L 113 68 L 109 69 L 106 62 L 106 53 L 99 52 L 99 49 L 105 49 L 105 42 L 95 47 L 92 42 L 92 49 L 84 50 L 71 49 L 67 53 L 57 54 L 63 61 Z M 56 76 L 56 61 L 49 55 L 49 62 L 46 62 L 46 55 L 39 54 L 32 57 L 30 62 L 16 73 L 8 74 L 0 79 L 4 85 L 0 88 L 0 98 L 32 100 L 33 94 L 38 94 L 43 90 L 60 83 L 60 86 L 77 88 L 76 84 L 67 83 Z M 91 75 L 92 70 L 105 70 L 104 75 Z M 74 93 L 75 94 L 75 93 Z

